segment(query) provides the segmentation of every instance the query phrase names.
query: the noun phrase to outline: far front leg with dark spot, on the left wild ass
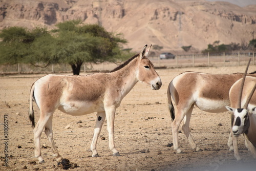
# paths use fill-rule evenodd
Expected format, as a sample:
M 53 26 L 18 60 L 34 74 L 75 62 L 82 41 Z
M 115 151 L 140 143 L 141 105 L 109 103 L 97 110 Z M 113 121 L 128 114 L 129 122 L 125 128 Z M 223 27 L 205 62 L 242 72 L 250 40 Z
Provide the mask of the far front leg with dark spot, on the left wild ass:
M 93 141 L 91 144 L 91 151 L 93 152 L 92 157 L 99 157 L 98 152 L 96 150 L 96 146 L 97 146 L 97 141 L 98 141 L 98 137 L 103 125 L 103 122 L 105 120 L 105 112 L 98 112 L 97 113 L 97 119 L 96 119 L 96 125 L 95 125 L 95 129 L 94 129 L 94 135 L 93 135 Z

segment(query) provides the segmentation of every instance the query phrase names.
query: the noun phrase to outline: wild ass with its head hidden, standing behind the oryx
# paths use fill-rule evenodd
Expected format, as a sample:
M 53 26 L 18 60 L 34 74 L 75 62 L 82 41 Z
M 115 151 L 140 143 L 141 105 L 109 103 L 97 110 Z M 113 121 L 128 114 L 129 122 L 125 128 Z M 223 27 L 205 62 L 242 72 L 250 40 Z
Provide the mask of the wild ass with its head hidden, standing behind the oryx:
M 256 76 L 255 74 L 250 74 Z M 189 121 L 194 105 L 200 110 L 210 113 L 226 112 L 226 105 L 230 105 L 229 89 L 238 79 L 243 77 L 243 73 L 233 74 L 207 74 L 198 72 L 184 72 L 170 81 L 167 97 L 170 116 L 172 118 L 172 132 L 174 149 L 182 153 L 179 148 L 178 130 L 184 119 L 182 130 L 186 135 L 191 147 L 199 152 L 197 146 L 189 131 Z M 177 113 L 173 101 L 177 107 Z M 229 138 L 228 146 L 232 149 L 232 142 Z

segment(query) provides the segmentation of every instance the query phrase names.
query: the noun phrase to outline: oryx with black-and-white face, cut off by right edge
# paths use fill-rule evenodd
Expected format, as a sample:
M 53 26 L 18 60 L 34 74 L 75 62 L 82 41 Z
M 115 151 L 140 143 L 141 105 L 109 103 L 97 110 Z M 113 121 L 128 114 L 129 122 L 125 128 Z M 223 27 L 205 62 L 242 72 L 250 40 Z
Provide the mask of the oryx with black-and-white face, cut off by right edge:
M 247 68 L 248 69 L 248 68 Z M 246 72 L 247 72 L 246 69 Z M 236 81 L 229 91 L 230 106 L 226 106 L 231 115 L 231 133 L 234 157 L 239 161 L 237 137 L 244 135 L 247 147 L 256 158 L 256 77 L 246 76 Z M 246 76 L 246 77 L 245 77 Z M 254 94 L 253 94 L 254 93 Z M 243 105 L 243 108 L 241 106 Z

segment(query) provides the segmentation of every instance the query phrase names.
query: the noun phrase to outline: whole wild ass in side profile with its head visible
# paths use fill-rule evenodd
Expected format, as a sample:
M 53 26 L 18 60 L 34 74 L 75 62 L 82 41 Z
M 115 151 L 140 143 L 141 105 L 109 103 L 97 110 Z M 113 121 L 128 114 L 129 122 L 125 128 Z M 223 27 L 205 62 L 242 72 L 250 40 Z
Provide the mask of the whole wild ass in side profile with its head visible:
M 56 109 L 80 116 L 97 112 L 94 136 L 91 144 L 92 157 L 97 157 L 96 143 L 106 118 L 109 132 L 109 147 L 113 156 L 119 156 L 114 144 L 114 119 L 116 109 L 123 97 L 140 81 L 153 90 L 160 89 L 162 82 L 147 58 L 150 48 L 126 60 L 111 72 L 83 76 L 46 75 L 35 81 L 30 91 L 29 118 L 34 127 L 35 157 L 45 162 L 40 151 L 40 136 L 45 128 L 54 157 L 61 160 L 53 141 L 52 118 Z M 35 125 L 32 99 L 36 102 L 40 117 Z

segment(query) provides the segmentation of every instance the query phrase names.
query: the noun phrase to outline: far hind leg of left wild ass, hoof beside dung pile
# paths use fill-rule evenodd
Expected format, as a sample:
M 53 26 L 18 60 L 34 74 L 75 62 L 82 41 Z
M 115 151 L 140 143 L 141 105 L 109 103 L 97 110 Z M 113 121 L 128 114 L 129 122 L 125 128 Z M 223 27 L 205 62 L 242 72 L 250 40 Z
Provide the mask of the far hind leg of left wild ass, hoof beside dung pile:
M 45 126 L 45 134 L 50 142 L 50 146 L 53 152 L 53 156 L 56 157 L 57 161 L 62 160 L 62 157 L 59 155 L 58 150 L 55 146 L 54 140 L 53 140 L 53 132 L 52 132 L 52 117 L 53 115 L 51 115 L 50 119 L 48 120 L 48 122 L 46 123 Z

